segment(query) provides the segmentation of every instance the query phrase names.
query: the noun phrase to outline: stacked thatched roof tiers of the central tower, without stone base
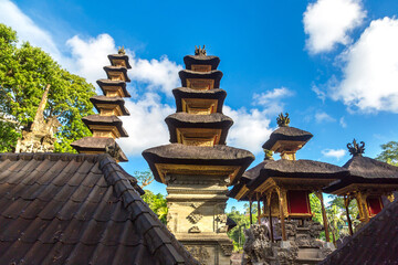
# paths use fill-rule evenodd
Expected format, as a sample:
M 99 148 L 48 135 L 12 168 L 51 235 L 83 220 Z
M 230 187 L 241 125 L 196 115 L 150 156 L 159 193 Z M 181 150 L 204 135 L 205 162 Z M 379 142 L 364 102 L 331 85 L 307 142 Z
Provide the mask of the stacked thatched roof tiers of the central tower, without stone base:
M 182 87 L 172 91 L 177 113 L 166 118 L 171 144 L 147 149 L 143 156 L 161 182 L 165 182 L 165 174 L 184 171 L 202 176 L 227 173 L 233 183 L 254 156 L 224 146 L 233 121 L 222 114 L 227 93 L 219 88 L 222 72 L 217 67 L 220 59 L 208 56 L 206 50 L 196 52 L 196 55 L 185 56 L 186 70 L 179 73 Z

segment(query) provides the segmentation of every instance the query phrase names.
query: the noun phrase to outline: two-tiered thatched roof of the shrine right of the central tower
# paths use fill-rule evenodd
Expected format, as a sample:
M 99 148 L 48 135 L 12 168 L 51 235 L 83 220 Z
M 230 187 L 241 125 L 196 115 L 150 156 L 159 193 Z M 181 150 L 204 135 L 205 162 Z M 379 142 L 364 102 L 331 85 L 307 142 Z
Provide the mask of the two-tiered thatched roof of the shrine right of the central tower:
M 248 195 L 255 190 L 268 187 L 265 182 L 273 184 L 296 186 L 297 189 L 318 190 L 336 179 L 348 174 L 344 168 L 314 161 L 295 159 L 295 152 L 300 150 L 313 135 L 308 131 L 290 127 L 289 115 L 277 117 L 279 128 L 274 130 L 270 139 L 262 146 L 264 150 L 280 152 L 280 160 L 265 157 L 264 161 L 245 171 L 241 181 L 229 191 L 228 195 L 238 200 L 248 200 Z M 270 183 L 271 184 L 271 183 Z

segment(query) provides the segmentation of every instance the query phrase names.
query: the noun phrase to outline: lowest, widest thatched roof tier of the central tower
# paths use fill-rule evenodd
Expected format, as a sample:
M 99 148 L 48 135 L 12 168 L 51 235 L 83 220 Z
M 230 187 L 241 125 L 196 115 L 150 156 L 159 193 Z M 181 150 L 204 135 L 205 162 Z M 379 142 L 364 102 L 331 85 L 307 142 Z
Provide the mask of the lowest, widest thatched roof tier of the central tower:
M 241 167 L 234 180 L 254 160 L 250 151 L 218 145 L 214 147 L 185 146 L 181 144 L 169 144 L 158 146 L 143 151 L 145 160 L 148 162 L 155 179 L 161 182 L 155 163 L 170 165 L 198 165 L 198 166 L 239 166 Z M 231 183 L 233 184 L 233 183 Z

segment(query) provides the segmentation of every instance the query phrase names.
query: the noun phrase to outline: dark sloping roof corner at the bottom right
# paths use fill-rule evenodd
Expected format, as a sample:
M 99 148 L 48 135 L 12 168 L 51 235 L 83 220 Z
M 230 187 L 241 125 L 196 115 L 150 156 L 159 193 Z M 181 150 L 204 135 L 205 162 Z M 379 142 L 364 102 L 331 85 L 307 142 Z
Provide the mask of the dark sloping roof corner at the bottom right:
M 398 201 L 383 209 L 320 265 L 397 264 Z

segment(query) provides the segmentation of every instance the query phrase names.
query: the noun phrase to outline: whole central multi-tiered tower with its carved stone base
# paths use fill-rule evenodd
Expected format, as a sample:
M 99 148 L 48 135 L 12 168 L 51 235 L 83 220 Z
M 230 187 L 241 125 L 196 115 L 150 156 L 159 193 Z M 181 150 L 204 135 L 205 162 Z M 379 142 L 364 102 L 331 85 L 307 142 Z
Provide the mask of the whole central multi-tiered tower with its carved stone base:
M 230 264 L 227 186 L 235 183 L 254 156 L 226 146 L 233 121 L 222 114 L 220 59 L 203 49 L 184 57 L 182 87 L 172 91 L 177 113 L 166 118 L 170 142 L 143 152 L 155 179 L 167 184 L 168 227 L 202 264 Z M 248 136 L 249 137 L 249 136 Z

